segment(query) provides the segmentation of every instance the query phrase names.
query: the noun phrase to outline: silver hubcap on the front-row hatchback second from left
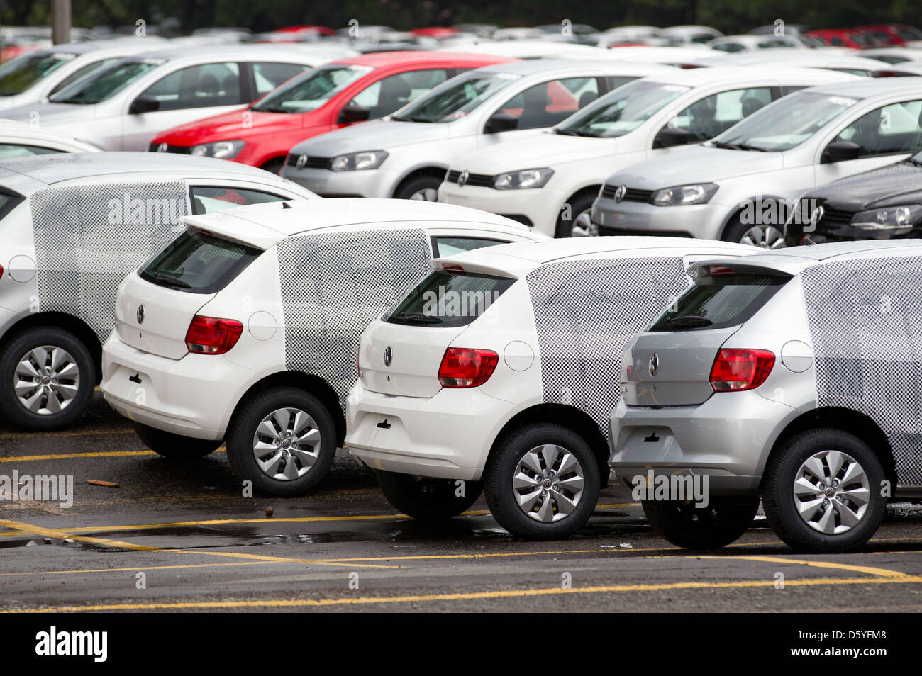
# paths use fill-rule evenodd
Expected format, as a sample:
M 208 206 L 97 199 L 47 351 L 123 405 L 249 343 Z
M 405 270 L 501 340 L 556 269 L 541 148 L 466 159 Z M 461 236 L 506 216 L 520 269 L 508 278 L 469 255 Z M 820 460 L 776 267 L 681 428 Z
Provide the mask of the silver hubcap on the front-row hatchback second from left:
M 253 435 L 256 464 L 278 481 L 293 481 L 310 472 L 320 450 L 317 423 L 297 408 L 280 408 L 266 415 Z

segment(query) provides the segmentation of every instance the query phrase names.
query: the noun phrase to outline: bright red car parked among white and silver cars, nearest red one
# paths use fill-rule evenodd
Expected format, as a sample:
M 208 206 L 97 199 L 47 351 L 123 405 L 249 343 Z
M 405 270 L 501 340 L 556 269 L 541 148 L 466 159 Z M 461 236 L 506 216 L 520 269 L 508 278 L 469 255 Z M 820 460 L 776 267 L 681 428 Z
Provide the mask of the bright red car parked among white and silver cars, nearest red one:
M 231 159 L 278 173 L 292 146 L 384 117 L 457 74 L 514 61 L 448 52 L 378 52 L 292 77 L 246 108 L 173 127 L 149 150 Z

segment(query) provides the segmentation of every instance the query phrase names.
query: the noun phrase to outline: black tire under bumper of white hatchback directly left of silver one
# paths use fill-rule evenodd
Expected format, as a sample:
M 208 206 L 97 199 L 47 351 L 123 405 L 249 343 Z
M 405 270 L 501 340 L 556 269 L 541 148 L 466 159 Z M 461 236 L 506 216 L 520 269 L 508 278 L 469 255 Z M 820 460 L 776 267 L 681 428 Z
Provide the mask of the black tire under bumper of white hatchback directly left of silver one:
M 420 521 L 453 519 L 470 509 L 483 491 L 479 481 L 465 481 L 458 496 L 455 479 L 434 479 L 397 472 L 375 472 L 384 497 L 398 511 Z

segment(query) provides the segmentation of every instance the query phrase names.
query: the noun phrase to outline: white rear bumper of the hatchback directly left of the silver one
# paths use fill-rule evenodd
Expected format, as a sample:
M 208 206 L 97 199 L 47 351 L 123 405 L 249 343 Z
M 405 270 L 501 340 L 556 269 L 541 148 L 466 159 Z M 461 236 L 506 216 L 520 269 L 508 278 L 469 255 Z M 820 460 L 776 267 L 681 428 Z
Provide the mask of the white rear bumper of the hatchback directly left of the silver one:
M 477 388 L 440 390 L 429 399 L 365 390 L 346 402 L 346 446 L 372 469 L 479 480 L 508 404 Z

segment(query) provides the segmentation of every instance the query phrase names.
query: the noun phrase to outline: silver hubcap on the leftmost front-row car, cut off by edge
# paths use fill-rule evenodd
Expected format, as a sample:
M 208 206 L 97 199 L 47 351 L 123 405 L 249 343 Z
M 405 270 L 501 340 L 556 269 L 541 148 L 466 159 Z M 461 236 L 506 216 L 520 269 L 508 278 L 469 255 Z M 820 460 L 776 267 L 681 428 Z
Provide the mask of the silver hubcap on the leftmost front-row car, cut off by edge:
M 55 345 L 35 347 L 22 355 L 13 374 L 19 403 L 33 414 L 61 413 L 74 401 L 79 388 L 77 361 Z

